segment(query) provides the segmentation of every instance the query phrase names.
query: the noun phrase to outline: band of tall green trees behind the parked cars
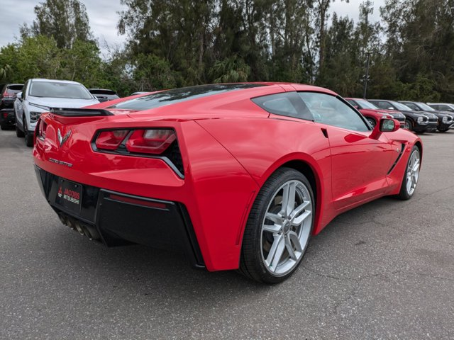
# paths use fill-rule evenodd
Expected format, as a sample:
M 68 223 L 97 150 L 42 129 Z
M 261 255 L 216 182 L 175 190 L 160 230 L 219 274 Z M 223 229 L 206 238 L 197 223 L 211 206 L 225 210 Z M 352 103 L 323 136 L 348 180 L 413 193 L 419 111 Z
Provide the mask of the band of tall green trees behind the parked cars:
M 123 50 L 101 59 L 84 5 L 45 0 L 0 48 L 0 79 L 72 79 L 121 95 L 209 82 L 292 81 L 369 98 L 454 101 L 453 0 L 385 0 L 382 21 L 334 0 L 121 0 Z M 343 0 L 338 0 L 343 1 Z M 347 0 L 345 0 L 348 2 Z

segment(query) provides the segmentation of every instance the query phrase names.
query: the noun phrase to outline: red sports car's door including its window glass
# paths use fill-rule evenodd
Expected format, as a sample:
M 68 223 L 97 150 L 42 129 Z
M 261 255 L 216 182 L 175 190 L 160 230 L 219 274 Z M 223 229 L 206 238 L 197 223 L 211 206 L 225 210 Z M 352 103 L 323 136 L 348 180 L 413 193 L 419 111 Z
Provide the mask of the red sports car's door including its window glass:
M 316 92 L 299 95 L 314 121 L 326 128 L 334 207 L 348 208 L 382 195 L 394 151 L 386 135 L 371 138 L 365 119 L 339 97 Z

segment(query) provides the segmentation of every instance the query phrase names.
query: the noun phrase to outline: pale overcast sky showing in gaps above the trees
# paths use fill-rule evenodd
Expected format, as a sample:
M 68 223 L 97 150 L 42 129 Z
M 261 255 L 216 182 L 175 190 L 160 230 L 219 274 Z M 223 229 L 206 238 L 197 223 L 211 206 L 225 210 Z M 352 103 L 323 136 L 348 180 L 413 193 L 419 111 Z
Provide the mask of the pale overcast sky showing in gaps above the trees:
M 341 0 L 335 0 L 331 4 L 331 13 L 336 11 L 339 16 L 350 16 L 358 20 L 358 7 L 363 0 L 350 0 L 348 4 Z M 42 1 L 36 0 L 0 0 L 0 46 L 14 42 L 19 35 L 19 26 L 23 23 L 29 25 L 35 18 L 33 8 Z M 120 0 L 82 0 L 87 7 L 90 26 L 95 38 L 102 42 L 104 39 L 109 45 L 122 45 L 126 40 L 125 35 L 118 35 L 116 24 L 118 23 L 118 11 L 123 9 Z M 372 20 L 380 18 L 379 7 L 384 0 L 375 0 L 375 10 Z M 101 43 L 102 50 L 102 43 Z

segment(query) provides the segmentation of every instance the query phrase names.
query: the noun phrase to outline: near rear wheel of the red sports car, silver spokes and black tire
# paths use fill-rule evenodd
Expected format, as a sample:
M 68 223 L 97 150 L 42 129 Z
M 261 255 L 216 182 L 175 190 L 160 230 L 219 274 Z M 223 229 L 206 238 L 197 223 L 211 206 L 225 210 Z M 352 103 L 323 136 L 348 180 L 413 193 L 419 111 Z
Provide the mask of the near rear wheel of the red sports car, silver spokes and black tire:
M 243 236 L 240 272 L 279 283 L 297 270 L 314 227 L 315 200 L 306 176 L 278 169 L 260 189 Z

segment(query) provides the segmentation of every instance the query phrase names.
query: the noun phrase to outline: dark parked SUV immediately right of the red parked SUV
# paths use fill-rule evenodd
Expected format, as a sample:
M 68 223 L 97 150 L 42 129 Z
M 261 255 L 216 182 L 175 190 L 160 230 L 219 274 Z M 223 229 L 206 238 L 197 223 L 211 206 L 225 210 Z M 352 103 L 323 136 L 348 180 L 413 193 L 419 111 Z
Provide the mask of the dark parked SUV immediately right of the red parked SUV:
M 385 110 L 398 110 L 405 115 L 405 128 L 406 130 L 414 132 L 433 132 L 437 130 L 438 120 L 430 119 L 427 115 L 417 113 L 408 106 L 397 101 L 388 101 L 383 99 L 368 99 L 370 103 L 383 108 Z

